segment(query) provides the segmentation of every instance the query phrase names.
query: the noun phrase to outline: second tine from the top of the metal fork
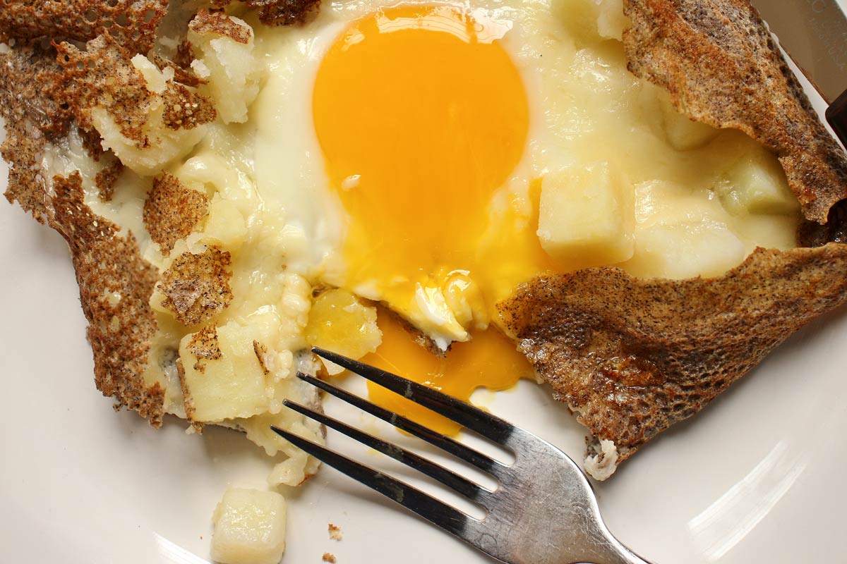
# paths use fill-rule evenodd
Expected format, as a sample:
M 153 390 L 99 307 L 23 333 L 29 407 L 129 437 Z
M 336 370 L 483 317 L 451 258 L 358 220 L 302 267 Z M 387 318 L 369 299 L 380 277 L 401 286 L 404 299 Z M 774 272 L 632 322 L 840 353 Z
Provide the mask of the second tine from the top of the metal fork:
M 422 424 L 415 423 L 412 419 L 407 419 L 402 415 L 397 415 L 388 409 L 380 408 L 378 405 L 368 402 L 368 400 L 363 397 L 353 395 L 350 392 L 346 392 L 346 390 L 342 390 L 328 382 L 318 380 L 318 378 L 303 374 L 302 372 L 298 372 L 297 377 L 302 381 L 307 381 L 313 386 L 317 386 L 321 390 L 324 390 L 324 392 L 338 397 L 340 400 L 350 403 L 364 412 L 374 415 L 374 417 L 387 421 L 396 428 L 402 429 L 407 433 L 418 437 L 418 439 L 427 441 L 432 446 L 437 446 L 442 451 L 449 452 L 454 457 L 460 458 L 469 464 L 473 464 L 473 466 L 480 470 L 492 472 L 495 468 L 502 467 L 502 464 L 495 461 L 494 458 L 485 456 L 483 453 L 475 451 L 469 446 L 464 446 L 461 442 L 454 441 L 446 435 L 436 433 L 434 430 L 424 427 Z

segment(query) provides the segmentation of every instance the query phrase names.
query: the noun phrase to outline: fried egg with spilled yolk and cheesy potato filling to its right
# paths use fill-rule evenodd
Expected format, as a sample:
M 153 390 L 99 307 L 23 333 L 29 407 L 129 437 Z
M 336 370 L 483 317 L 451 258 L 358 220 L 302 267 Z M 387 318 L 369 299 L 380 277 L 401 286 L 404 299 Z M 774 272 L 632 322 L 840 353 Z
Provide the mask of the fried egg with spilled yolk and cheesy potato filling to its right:
M 496 304 L 536 275 L 713 276 L 794 245 L 775 158 L 628 74 L 619 4 L 338 2 L 257 30 L 257 189 L 289 268 L 382 304 L 366 361 L 468 399 L 532 375 Z

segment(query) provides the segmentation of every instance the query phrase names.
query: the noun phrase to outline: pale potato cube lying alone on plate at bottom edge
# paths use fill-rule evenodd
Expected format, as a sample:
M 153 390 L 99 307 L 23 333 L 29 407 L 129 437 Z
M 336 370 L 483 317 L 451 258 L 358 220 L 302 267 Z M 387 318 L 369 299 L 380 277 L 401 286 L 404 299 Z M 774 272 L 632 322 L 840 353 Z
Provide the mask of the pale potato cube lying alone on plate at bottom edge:
M 212 517 L 212 558 L 221 564 L 277 564 L 285 551 L 285 497 L 229 488 Z

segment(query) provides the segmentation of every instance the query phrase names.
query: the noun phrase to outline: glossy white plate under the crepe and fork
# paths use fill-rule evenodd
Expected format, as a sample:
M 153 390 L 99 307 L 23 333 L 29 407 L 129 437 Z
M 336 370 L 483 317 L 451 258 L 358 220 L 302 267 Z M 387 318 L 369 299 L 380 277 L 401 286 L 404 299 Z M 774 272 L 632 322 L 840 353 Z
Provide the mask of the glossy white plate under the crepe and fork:
M 4 169 L 0 176 L 5 189 Z M 234 432 L 187 436 L 175 419 L 153 430 L 135 413 L 113 412 L 93 386 L 64 240 L 17 206 L 0 205 L 0 264 L 0 561 L 208 561 L 224 488 L 264 487 L 268 458 Z M 840 309 L 597 485 L 609 528 L 656 562 L 844 561 L 844 366 Z M 546 388 L 522 382 L 481 399 L 582 457 L 583 429 Z M 338 402 L 326 408 L 400 439 Z M 330 434 L 329 446 L 410 476 L 340 435 Z M 286 494 L 284 564 L 317 564 L 324 552 L 340 564 L 491 561 L 331 468 Z M 343 540 L 329 539 L 328 523 Z

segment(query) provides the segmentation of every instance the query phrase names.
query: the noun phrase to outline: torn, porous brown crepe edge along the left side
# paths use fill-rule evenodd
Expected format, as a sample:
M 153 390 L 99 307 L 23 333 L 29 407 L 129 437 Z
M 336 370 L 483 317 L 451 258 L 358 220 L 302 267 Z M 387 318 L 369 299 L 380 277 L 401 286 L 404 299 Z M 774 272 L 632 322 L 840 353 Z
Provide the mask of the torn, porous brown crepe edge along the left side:
M 41 159 L 47 144 L 63 140 L 71 128 L 80 129 L 92 158 L 103 157 L 99 135 L 86 111 L 94 96 L 114 93 L 119 99 L 124 96 L 126 103 L 113 111 L 128 118 L 120 112 L 145 96 L 145 83 L 127 64 L 137 50 L 152 46 L 164 8 L 158 2 L 119 3 L 113 14 L 113 8 L 97 12 L 101 3 L 73 4 L 4 2 L 0 11 L 0 36 L 14 42 L 13 49 L 0 53 L 0 112 L 7 128 L 3 158 L 11 165 L 5 195 L 68 241 L 89 322 L 97 388 L 158 426 L 163 389 L 143 377 L 150 341 L 158 329 L 149 305 L 158 272 L 141 258 L 132 233 L 119 234 L 118 226 L 84 203 L 79 174 L 44 178 Z M 64 15 L 59 17 L 52 10 Z M 107 18 L 105 14 L 123 14 L 114 21 L 131 25 L 136 41 L 120 45 L 103 33 L 97 21 L 83 17 L 89 10 L 102 19 Z M 51 41 L 64 39 L 89 40 L 91 52 L 82 53 L 67 42 L 50 46 Z M 110 70 L 123 78 L 118 85 L 106 85 Z M 117 177 L 119 169 L 119 163 L 108 158 L 111 165 L 98 181 L 107 197 L 115 179 L 110 177 Z

